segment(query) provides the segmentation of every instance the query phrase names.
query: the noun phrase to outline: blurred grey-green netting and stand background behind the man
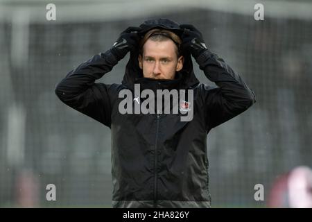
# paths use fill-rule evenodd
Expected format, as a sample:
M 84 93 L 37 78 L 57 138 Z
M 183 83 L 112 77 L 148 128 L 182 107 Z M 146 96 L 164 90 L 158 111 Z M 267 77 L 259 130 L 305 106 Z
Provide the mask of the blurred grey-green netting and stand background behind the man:
M 111 207 L 110 129 L 64 105 L 54 87 L 125 28 L 157 17 L 196 26 L 257 96 L 208 135 L 212 207 L 289 207 L 299 166 L 297 184 L 311 195 L 311 1 L 0 0 L 0 207 Z M 100 82 L 121 83 L 126 62 Z M 49 184 L 55 201 L 46 200 Z

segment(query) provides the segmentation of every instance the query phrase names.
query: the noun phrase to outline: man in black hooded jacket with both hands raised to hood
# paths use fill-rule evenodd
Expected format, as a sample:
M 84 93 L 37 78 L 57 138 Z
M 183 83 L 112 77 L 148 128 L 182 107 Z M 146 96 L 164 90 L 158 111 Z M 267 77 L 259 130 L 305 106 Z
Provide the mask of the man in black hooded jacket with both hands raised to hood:
M 128 51 L 121 84 L 94 83 Z M 218 87 L 199 83 L 191 56 Z M 193 98 L 179 103 L 178 113 L 155 107 L 156 112 L 121 114 L 121 92 L 134 92 L 128 105 L 145 101 L 135 95 L 135 85 L 140 92 L 188 90 Z M 71 108 L 111 128 L 113 207 L 210 207 L 207 134 L 255 102 L 252 90 L 207 49 L 196 28 L 169 19 L 128 28 L 112 49 L 69 72 L 55 93 Z M 181 110 L 192 110 L 193 117 L 181 121 Z

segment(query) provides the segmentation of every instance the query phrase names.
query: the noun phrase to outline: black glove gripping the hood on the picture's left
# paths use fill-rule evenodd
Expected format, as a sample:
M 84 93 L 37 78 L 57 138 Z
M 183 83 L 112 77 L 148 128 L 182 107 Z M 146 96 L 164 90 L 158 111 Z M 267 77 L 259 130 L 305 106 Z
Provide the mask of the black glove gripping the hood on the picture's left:
M 129 27 L 119 35 L 118 40 L 114 42 L 111 49 L 117 60 L 125 57 L 128 51 L 139 50 L 140 37 L 137 34 L 139 31 L 141 31 L 139 27 Z

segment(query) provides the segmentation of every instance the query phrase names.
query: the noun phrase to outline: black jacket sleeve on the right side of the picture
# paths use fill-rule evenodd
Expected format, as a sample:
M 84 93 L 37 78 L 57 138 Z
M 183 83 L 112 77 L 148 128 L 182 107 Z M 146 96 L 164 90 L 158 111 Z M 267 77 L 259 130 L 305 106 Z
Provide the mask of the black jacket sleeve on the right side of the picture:
M 212 88 L 204 85 L 202 89 L 208 130 L 236 117 L 256 102 L 252 89 L 222 58 L 207 50 L 196 62 L 205 76 L 218 86 Z

